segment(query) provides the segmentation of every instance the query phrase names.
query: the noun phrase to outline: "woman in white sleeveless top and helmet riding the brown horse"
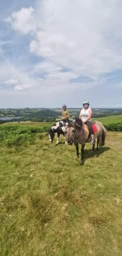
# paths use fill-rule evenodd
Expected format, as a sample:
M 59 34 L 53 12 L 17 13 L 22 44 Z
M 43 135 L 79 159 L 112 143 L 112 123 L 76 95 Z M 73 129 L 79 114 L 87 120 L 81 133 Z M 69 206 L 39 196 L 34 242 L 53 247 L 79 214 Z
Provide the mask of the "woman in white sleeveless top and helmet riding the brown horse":
M 89 108 L 89 100 L 84 100 L 83 102 L 84 108 L 81 109 L 79 118 L 83 121 L 83 123 L 87 124 L 89 127 L 89 134 L 91 135 L 92 144 L 95 144 L 94 138 L 93 138 L 93 129 L 91 124 L 91 117 L 92 117 L 92 109 Z

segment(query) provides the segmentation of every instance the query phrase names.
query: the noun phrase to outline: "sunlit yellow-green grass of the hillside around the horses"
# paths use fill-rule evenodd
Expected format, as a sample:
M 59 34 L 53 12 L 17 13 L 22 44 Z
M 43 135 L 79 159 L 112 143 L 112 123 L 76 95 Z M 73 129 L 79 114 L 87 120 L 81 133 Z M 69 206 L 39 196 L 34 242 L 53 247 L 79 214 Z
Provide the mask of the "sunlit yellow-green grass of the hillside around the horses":
M 83 166 L 74 145 L 55 142 L 1 142 L 0 255 L 121 256 L 122 132 L 98 153 L 87 144 Z

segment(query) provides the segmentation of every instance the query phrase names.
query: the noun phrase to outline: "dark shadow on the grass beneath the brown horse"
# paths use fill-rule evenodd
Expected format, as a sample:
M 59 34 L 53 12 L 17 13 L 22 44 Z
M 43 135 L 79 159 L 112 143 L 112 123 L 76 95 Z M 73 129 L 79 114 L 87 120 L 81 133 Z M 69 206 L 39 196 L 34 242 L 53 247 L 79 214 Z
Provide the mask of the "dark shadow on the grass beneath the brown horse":
M 109 149 L 110 149 L 109 147 L 100 147 L 98 148 L 98 151 L 96 149 L 94 149 L 94 151 L 92 151 L 91 149 L 85 150 L 83 159 L 81 160 L 81 165 L 84 165 L 86 159 L 92 158 L 94 156 L 99 157 L 102 153 L 104 153 Z

